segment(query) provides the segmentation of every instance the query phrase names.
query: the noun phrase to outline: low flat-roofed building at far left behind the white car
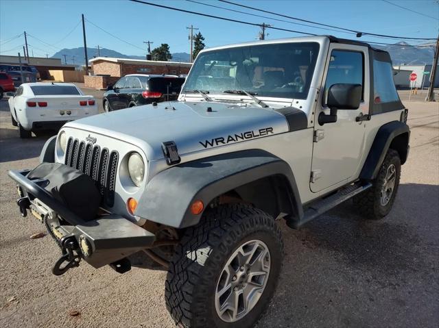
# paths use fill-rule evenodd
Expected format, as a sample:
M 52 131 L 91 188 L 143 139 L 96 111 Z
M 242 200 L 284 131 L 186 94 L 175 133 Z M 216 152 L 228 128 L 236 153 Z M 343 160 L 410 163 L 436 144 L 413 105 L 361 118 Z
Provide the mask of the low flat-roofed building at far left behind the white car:
M 19 56 L 0 55 L 0 64 L 18 65 L 20 64 Z M 21 64 L 35 66 L 40 73 L 41 79 L 51 79 L 50 70 L 54 71 L 75 71 L 75 65 L 64 65 L 60 58 L 44 58 L 44 57 L 21 57 Z

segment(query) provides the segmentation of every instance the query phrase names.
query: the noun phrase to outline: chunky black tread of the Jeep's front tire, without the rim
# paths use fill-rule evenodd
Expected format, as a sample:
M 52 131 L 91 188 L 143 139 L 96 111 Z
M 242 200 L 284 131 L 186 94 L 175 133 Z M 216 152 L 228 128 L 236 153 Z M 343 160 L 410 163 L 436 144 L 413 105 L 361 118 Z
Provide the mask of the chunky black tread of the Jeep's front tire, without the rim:
M 194 287 L 203 284 L 199 264 L 204 265 L 208 259 L 215 261 L 215 258 L 209 258 L 209 254 L 213 249 L 224 246 L 221 245 L 224 236 L 228 237 L 228 244 L 233 244 L 241 239 L 241 229 L 246 231 L 256 225 L 256 229 L 261 227 L 261 231 L 272 231 L 281 244 L 283 254 L 281 230 L 275 220 L 250 205 L 235 203 L 215 207 L 204 214 L 198 225 L 185 231 L 169 264 L 165 282 L 166 307 L 176 325 L 203 327 L 204 324 L 200 322 L 203 316 L 200 313 L 195 316 L 193 313 L 193 309 L 203 308 L 206 297 L 206 292 L 195 295 Z M 203 253 L 206 250 L 208 254 Z

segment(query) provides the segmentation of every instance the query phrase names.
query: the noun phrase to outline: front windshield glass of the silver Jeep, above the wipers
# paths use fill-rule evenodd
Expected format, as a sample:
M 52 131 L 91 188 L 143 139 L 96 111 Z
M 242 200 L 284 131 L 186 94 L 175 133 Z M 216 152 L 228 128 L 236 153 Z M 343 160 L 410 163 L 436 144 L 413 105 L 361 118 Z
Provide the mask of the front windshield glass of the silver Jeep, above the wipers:
M 316 42 L 291 42 L 200 53 L 183 92 L 245 90 L 257 97 L 306 99 L 318 51 Z

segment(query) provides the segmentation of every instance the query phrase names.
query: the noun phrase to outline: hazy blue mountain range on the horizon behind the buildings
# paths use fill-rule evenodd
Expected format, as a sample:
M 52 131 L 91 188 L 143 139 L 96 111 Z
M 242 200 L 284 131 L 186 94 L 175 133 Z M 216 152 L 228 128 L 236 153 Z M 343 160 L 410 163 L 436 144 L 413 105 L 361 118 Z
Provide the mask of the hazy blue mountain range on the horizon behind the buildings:
M 435 43 L 412 46 L 406 42 L 398 42 L 394 45 L 372 46 L 388 51 L 394 65 L 423 65 L 431 64 L 431 62 L 433 62 Z M 91 59 L 98 56 L 98 51 L 96 48 L 87 47 L 87 54 L 88 59 Z M 55 53 L 51 58 L 61 58 L 62 62 L 64 62 L 64 55 L 66 55 L 65 59 L 67 64 L 84 64 L 84 47 L 62 49 Z M 101 57 L 145 59 L 144 56 L 124 55 L 123 53 L 106 48 L 99 49 L 99 55 Z M 172 60 L 175 62 L 189 62 L 189 53 L 172 53 Z

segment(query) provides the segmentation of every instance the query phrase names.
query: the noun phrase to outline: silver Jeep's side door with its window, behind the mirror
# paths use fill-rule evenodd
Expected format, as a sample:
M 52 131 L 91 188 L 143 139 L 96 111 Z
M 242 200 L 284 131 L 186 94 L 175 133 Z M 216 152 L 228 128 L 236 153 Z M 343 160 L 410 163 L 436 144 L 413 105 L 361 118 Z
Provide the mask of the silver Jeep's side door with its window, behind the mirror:
M 364 156 L 364 136 L 367 121 L 355 118 L 369 113 L 368 48 L 354 45 L 331 44 L 324 73 L 320 105 L 316 108 L 316 142 L 313 147 L 310 188 L 320 192 L 325 188 L 344 184 L 357 173 Z M 326 97 L 333 84 L 361 84 L 362 97 L 357 110 L 337 111 L 337 122 L 319 125 L 318 115 L 329 114 Z M 319 139 L 319 140 L 318 140 Z

